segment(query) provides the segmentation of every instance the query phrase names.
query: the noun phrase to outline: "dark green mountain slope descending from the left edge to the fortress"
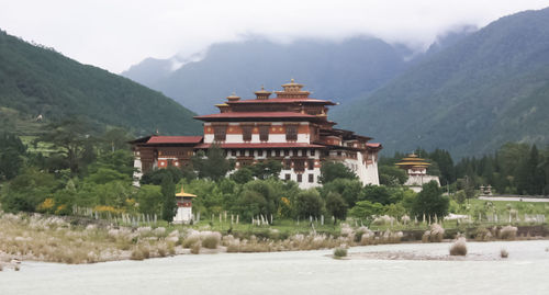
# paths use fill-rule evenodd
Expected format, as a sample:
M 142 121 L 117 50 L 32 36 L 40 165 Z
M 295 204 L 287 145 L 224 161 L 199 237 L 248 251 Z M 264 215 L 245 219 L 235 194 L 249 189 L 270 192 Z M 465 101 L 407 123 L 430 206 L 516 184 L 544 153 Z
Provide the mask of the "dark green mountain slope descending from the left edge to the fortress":
M 136 135 L 201 129 L 194 113 L 157 91 L 0 31 L 0 123 L 24 133 L 38 115 L 77 115 Z

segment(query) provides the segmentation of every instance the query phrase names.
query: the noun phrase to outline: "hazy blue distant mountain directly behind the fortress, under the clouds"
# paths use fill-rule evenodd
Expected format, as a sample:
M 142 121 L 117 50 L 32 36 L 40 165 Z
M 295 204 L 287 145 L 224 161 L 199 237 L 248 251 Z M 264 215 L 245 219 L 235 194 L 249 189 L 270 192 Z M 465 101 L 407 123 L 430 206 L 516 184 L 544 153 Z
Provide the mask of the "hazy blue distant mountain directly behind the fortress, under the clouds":
M 407 67 L 411 55 L 404 46 L 369 37 L 285 45 L 253 38 L 212 45 L 202 59 L 183 60 L 176 70 L 177 57 L 148 58 L 122 75 L 203 114 L 216 111 L 214 104 L 232 92 L 253 98 L 261 84 L 279 90 L 291 78 L 314 98 L 344 102 L 386 83 Z

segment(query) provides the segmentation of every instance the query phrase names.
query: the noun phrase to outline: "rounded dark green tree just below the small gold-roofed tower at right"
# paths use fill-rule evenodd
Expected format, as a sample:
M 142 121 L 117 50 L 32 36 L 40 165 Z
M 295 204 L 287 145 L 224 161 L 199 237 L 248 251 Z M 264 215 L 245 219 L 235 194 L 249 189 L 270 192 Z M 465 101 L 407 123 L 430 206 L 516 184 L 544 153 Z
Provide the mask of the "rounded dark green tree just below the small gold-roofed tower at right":
M 419 217 L 425 214 L 425 216 L 430 216 L 432 218 L 436 215 L 442 218 L 448 215 L 449 204 L 450 200 L 448 196 L 442 196 L 442 190 L 435 181 L 430 181 L 423 185 L 422 191 L 415 197 L 412 214 Z

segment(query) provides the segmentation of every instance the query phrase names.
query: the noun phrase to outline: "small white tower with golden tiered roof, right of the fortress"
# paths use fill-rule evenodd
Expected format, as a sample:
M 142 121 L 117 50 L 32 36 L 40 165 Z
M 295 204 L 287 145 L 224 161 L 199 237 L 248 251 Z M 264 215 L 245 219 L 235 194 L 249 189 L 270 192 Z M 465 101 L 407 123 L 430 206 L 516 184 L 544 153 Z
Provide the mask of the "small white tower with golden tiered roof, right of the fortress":
M 437 175 L 427 174 L 427 168 L 430 166 L 425 159 L 417 157 L 415 154 L 410 154 L 396 163 L 396 167 L 404 169 L 408 175 L 404 185 L 418 193 L 422 186 L 430 181 L 436 181 L 440 186 L 440 181 Z

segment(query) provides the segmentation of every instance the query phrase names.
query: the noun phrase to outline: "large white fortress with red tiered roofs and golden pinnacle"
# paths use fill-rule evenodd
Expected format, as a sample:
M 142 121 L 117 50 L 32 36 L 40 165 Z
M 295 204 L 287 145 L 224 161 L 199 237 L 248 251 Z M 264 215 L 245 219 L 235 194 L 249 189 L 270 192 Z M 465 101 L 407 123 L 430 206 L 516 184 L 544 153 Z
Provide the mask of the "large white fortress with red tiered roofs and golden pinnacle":
M 280 161 L 280 178 L 301 189 L 318 186 L 324 161 L 339 161 L 363 184 L 379 184 L 378 152 L 381 144 L 351 131 L 334 127 L 327 113 L 337 105 L 310 98 L 293 79 L 273 92 L 264 88 L 254 99 L 232 94 L 216 104 L 216 114 L 199 115 L 203 136 L 147 136 L 133 140 L 137 180 L 150 169 L 190 164 L 190 158 L 212 145 L 221 147 L 236 169 L 260 161 Z

